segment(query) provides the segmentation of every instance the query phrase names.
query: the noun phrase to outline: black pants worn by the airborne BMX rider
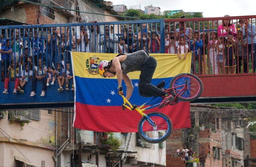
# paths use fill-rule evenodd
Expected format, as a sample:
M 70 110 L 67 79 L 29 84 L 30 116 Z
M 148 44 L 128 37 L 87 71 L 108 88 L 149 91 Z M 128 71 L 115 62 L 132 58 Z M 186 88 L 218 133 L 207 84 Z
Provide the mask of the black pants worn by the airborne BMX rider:
M 150 84 L 156 67 L 157 61 L 153 57 L 149 57 L 149 59 L 141 66 L 139 94 L 143 97 L 162 97 L 166 95 L 165 91 Z

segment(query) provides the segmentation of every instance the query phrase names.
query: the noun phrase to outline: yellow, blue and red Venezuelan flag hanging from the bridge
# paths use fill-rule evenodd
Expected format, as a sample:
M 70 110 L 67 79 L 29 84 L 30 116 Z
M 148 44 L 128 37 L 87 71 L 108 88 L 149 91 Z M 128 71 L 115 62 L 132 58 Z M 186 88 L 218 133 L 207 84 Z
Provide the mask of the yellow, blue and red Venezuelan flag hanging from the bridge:
M 75 115 L 73 126 L 83 130 L 98 132 L 137 132 L 141 115 L 136 111 L 122 110 L 123 98 L 117 94 L 117 78 L 103 78 L 98 73 L 98 65 L 102 60 L 112 60 L 117 54 L 72 52 L 72 69 L 75 85 Z M 171 79 L 180 73 L 190 73 L 191 53 L 186 59 L 178 59 L 175 54 L 150 54 L 157 60 L 157 68 L 151 84 L 157 85 L 165 80 L 165 88 L 169 88 Z M 134 86 L 130 98 L 132 104 L 138 106 L 151 98 L 141 97 L 138 91 L 140 71 L 128 73 Z M 124 87 L 124 95 L 126 86 Z M 150 104 L 161 103 L 156 98 Z M 190 128 L 190 103 L 179 102 L 145 111 L 158 111 L 169 116 L 174 129 Z

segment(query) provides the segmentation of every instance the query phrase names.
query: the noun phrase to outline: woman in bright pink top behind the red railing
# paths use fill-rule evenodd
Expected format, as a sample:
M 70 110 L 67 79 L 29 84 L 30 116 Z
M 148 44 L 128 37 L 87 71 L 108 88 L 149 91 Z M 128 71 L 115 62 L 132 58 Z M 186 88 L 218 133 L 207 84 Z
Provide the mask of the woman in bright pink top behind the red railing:
M 230 17 L 225 15 L 224 17 Z M 231 20 L 223 20 L 222 24 L 218 27 L 218 37 L 223 36 L 227 39 L 228 35 L 232 35 L 233 38 L 236 38 L 236 27 L 235 24 L 231 23 Z

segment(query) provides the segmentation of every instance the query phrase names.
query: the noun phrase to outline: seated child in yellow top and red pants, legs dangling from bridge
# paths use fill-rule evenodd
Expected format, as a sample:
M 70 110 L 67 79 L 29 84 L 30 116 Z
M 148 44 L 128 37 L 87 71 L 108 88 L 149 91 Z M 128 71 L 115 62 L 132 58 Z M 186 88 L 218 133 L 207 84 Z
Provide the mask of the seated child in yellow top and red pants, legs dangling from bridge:
M 17 87 L 19 86 L 19 67 L 18 67 L 18 63 L 16 63 L 16 69 L 14 69 L 14 60 L 11 61 L 11 65 L 8 68 L 7 77 L 4 79 L 4 91 L 3 91 L 4 94 L 8 94 L 10 72 L 11 72 L 11 81 L 14 81 L 14 76 L 16 75 L 15 85 L 14 85 L 14 89 L 13 89 L 13 94 L 16 94 Z

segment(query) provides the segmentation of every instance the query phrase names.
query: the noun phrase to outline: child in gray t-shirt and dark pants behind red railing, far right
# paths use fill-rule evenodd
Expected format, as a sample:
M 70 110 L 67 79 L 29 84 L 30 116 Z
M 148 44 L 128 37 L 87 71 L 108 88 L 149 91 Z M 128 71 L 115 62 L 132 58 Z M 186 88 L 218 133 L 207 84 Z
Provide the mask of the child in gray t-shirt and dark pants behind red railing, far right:
M 246 72 L 247 71 L 246 44 L 244 43 L 244 39 L 242 38 L 242 31 L 240 30 L 237 33 L 237 40 L 236 42 L 234 42 L 234 49 L 235 49 L 235 60 L 238 63 L 238 65 L 236 66 L 236 72 L 241 73 L 242 64 L 244 64 L 243 71 Z M 243 56 L 244 56 L 244 59 L 243 59 Z

